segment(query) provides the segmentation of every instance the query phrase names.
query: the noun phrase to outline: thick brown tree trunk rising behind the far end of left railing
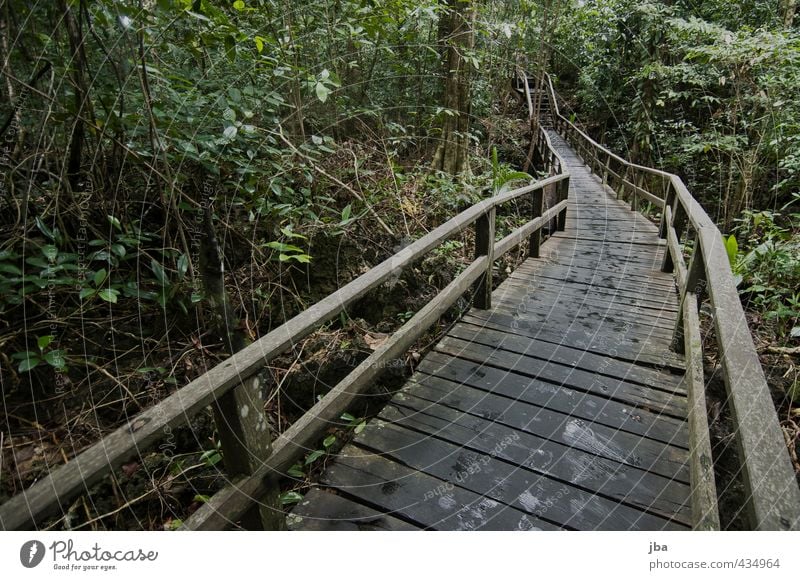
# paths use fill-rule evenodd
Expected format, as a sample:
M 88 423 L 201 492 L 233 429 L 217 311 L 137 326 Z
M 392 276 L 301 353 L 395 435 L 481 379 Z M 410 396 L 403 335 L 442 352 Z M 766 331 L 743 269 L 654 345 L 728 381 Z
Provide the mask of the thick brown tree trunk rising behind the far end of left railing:
M 475 46 L 475 11 L 471 0 L 447 0 L 447 7 L 439 27 L 444 48 L 446 111 L 432 168 L 455 175 L 469 171 L 470 65 L 465 52 Z

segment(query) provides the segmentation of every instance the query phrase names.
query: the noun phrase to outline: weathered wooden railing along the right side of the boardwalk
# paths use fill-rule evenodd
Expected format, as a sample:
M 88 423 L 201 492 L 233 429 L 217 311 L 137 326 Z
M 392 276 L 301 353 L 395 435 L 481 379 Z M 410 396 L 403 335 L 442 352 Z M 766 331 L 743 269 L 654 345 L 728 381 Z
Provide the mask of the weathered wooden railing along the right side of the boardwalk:
M 615 155 L 560 114 L 552 80 L 548 99 L 556 131 L 584 159 L 604 185 L 636 210 L 642 200 L 660 208 L 660 235 L 667 240 L 663 271 L 675 273 L 680 313 L 674 348 L 686 355 L 689 431 L 692 447 L 695 527 L 714 528 L 716 493 L 705 412 L 703 343 L 698 306 L 711 305 L 719 361 L 735 421 L 741 479 L 754 529 L 800 529 L 800 489 L 770 396 L 764 371 L 747 326 L 722 234 L 677 175 L 636 165 Z M 687 244 L 687 241 L 692 244 Z M 691 259 L 688 265 L 684 252 Z

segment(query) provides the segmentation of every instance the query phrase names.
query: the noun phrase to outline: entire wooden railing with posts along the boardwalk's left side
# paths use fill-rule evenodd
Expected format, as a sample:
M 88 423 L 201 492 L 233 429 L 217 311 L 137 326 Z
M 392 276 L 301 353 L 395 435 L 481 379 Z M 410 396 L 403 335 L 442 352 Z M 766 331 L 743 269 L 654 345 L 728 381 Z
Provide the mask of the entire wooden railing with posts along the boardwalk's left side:
M 544 132 L 542 135 L 543 142 L 549 144 L 547 135 Z M 276 481 L 304 453 L 315 448 L 313 446 L 324 431 L 336 424 L 352 401 L 374 383 L 386 362 L 401 356 L 470 287 L 474 289 L 475 306 L 489 308 L 493 262 L 525 238 L 530 238 L 531 252 L 536 255 L 543 226 L 556 221 L 561 229 L 564 228 L 569 173 L 552 148 L 546 157 L 546 169 L 550 175 L 546 179 L 485 199 L 461 212 L 154 407 L 133 417 L 94 446 L 5 502 L 0 506 L 0 529 L 34 528 L 47 518 L 63 513 L 68 502 L 88 492 L 126 460 L 139 456 L 148 447 L 168 437 L 172 429 L 186 424 L 209 406 L 215 411 L 229 485 L 197 510 L 183 528 L 223 529 L 237 522 L 248 528 L 281 527 L 282 513 L 276 507 Z M 542 197 L 546 189 L 555 191 L 557 203 L 543 211 Z M 533 200 L 531 219 L 496 241 L 496 208 L 524 196 Z M 270 361 L 333 319 L 349 304 L 473 224 L 474 261 L 271 443 L 259 377 Z

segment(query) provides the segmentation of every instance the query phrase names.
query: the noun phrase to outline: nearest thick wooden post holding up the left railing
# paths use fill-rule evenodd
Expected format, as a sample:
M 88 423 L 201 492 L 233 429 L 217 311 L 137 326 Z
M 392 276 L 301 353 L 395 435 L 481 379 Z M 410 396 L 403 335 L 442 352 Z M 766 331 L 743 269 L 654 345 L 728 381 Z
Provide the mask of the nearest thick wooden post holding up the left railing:
M 217 399 L 214 419 L 228 478 L 254 474 L 271 452 L 259 375 L 244 380 Z M 247 530 L 280 530 L 285 527 L 277 486 L 271 488 L 261 501 L 254 502 L 240 524 Z

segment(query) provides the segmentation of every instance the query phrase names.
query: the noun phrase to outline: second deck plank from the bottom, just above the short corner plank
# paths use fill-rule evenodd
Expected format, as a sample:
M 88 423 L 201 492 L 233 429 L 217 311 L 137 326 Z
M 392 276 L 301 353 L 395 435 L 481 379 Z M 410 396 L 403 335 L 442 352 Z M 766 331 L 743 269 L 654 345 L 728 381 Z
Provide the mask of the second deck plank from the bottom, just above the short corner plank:
M 355 445 L 323 477 L 349 497 L 435 530 L 553 530 L 556 526 Z M 439 492 L 437 494 L 437 491 Z

